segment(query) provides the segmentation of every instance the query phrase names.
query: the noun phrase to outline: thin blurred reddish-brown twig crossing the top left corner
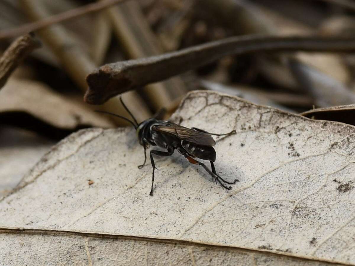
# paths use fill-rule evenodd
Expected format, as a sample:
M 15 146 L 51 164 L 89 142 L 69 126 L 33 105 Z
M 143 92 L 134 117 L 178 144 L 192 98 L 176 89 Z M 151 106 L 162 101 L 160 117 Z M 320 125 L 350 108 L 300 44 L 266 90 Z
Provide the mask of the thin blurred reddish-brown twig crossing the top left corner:
M 60 13 L 58 15 L 54 15 L 48 18 L 44 18 L 39 21 L 35 21 L 32 23 L 24 24 L 23 26 L 20 26 L 18 28 L 14 29 L 8 29 L 4 31 L 0 31 L 0 40 L 1 39 L 6 39 L 6 38 L 13 38 L 21 34 L 25 34 L 28 32 L 33 32 L 37 31 L 39 29 L 43 29 L 51 24 L 62 22 L 65 20 L 70 20 L 72 18 L 86 15 L 91 12 L 97 12 L 101 9 L 104 9 L 106 7 L 118 4 L 119 2 L 123 2 L 126 0 L 105 0 L 105 1 L 100 1 L 97 3 L 93 4 L 88 4 L 85 6 L 78 7 L 76 9 L 71 9 L 68 11 L 65 11 L 63 13 Z

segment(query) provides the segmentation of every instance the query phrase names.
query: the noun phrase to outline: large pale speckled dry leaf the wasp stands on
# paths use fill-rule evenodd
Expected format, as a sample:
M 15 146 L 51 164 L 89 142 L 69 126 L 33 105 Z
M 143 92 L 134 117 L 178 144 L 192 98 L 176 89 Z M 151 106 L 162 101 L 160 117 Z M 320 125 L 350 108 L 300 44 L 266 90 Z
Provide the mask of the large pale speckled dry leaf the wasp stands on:
M 133 129 L 82 130 L 0 200 L 2 263 L 355 264 L 353 126 L 206 91 L 173 120 L 237 131 L 215 146 L 232 190 L 175 153 L 156 159 L 151 197 Z

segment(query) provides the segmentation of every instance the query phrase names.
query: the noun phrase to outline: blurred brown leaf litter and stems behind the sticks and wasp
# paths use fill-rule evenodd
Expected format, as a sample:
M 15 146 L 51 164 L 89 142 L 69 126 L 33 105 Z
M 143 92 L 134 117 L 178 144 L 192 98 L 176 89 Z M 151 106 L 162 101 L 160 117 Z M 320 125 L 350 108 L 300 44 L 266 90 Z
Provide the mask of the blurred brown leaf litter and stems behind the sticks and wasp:
M 0 32 L 94 2 L 2 0 Z M 56 23 L 35 32 L 42 48 L 34 50 L 0 90 L 0 132 L 7 134 L 5 128 L 11 127 L 11 134 L 17 128 L 59 140 L 80 128 L 125 125 L 92 111 L 127 115 L 118 97 L 102 106 L 82 100 L 86 75 L 105 63 L 243 34 L 352 36 L 354 15 L 355 4 L 346 0 L 284 0 L 282 5 L 278 0 L 127 0 Z M 0 39 L 0 54 L 13 40 Z M 259 52 L 226 56 L 127 92 L 123 99 L 138 121 L 162 108 L 168 110 L 168 118 L 194 89 L 216 90 L 299 113 L 353 104 L 354 71 L 352 54 Z

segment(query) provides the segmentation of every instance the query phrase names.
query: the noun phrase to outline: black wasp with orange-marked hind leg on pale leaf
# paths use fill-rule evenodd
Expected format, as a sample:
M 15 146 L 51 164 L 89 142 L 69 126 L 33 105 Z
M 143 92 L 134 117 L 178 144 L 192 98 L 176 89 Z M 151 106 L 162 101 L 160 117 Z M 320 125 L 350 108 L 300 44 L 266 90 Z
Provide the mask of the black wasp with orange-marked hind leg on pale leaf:
M 159 146 L 166 151 L 159 151 L 159 150 L 151 150 L 150 157 L 151 163 L 153 167 L 153 175 L 152 175 L 152 189 L 149 195 L 153 196 L 153 184 L 154 184 L 154 170 L 158 169 L 155 167 L 153 154 L 158 156 L 171 156 L 174 153 L 174 150 L 177 150 L 180 154 L 184 155 L 185 158 L 191 162 L 191 164 L 201 165 L 217 182 L 224 187 L 225 189 L 231 189 L 232 187 L 227 187 L 225 184 L 235 184 L 238 180 L 235 179 L 234 182 L 225 181 L 222 177 L 220 177 L 215 168 L 213 162 L 216 160 L 216 151 L 213 149 L 213 146 L 216 144 L 214 139 L 211 135 L 216 136 L 223 136 L 223 135 L 230 135 L 235 133 L 235 131 L 231 131 L 226 134 L 213 134 L 208 133 L 202 129 L 198 128 L 187 128 L 180 126 L 178 124 L 164 121 L 164 120 L 157 120 L 156 116 L 153 118 L 149 118 L 144 120 L 140 124 L 138 124 L 136 118 L 132 115 L 130 110 L 126 107 L 122 98 L 120 101 L 125 108 L 125 110 L 129 113 L 129 115 L 133 118 L 133 121 L 129 120 L 126 117 L 116 115 L 114 113 L 105 112 L 105 111 L 97 111 L 101 113 L 107 113 L 109 115 L 118 116 L 127 122 L 130 122 L 133 127 L 136 129 L 137 138 L 139 143 L 144 148 L 144 162 L 142 165 L 139 165 L 138 168 L 142 168 L 147 161 L 147 153 L 146 150 L 149 148 L 149 145 L 152 146 Z M 211 170 L 203 164 L 193 158 L 199 158 L 202 160 L 208 160 L 211 162 Z

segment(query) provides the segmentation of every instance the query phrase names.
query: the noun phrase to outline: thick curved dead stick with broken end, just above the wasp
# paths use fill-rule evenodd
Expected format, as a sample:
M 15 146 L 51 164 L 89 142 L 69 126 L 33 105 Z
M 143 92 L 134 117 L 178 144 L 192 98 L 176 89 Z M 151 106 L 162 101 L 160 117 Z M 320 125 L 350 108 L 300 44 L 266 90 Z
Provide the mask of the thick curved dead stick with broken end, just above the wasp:
M 355 51 L 355 38 L 245 35 L 158 56 L 111 63 L 86 77 L 89 89 L 84 100 L 89 104 L 102 104 L 117 94 L 162 81 L 226 55 L 263 51 L 349 52 Z

